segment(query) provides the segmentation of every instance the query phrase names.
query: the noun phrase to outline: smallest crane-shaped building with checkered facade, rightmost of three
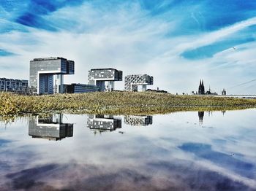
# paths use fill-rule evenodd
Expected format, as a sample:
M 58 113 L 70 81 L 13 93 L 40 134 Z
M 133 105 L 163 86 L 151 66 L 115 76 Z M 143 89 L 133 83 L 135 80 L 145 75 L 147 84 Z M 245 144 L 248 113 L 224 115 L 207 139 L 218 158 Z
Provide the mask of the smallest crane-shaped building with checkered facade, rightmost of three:
M 146 91 L 147 85 L 153 85 L 153 77 L 147 74 L 135 74 L 124 78 L 124 90 L 138 91 L 138 85 L 142 86 L 142 91 Z

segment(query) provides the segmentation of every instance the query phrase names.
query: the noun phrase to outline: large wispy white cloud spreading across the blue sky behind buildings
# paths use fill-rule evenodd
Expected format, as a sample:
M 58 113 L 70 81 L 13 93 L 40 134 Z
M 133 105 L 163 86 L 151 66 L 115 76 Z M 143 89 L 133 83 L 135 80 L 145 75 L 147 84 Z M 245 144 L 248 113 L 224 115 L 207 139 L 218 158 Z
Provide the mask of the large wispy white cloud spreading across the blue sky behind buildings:
M 1 77 L 28 79 L 32 58 L 61 56 L 75 61 L 75 75 L 64 77 L 67 83 L 86 83 L 91 68 L 113 67 L 123 70 L 124 75 L 151 74 L 153 88 L 171 93 L 197 90 L 201 78 L 205 79 L 206 89 L 211 85 L 220 93 L 223 87 L 249 81 L 252 79 L 249 72 L 255 70 L 252 64 L 255 61 L 254 42 L 244 44 L 244 50 L 226 50 L 200 61 L 188 61 L 179 55 L 184 50 L 217 42 L 254 25 L 256 17 L 208 34 L 178 37 L 167 36 L 167 31 L 176 27 L 176 21 L 152 17 L 138 4 L 123 4 L 106 11 L 85 3 L 80 7 L 59 9 L 45 19 L 64 30 L 50 32 L 28 28 L 29 33 L 0 34 L 0 48 L 18 54 L 0 58 Z M 244 64 L 248 68 L 241 69 Z M 16 65 L 18 70 L 15 70 Z M 116 87 L 123 89 L 124 82 L 117 82 Z M 244 93 L 256 92 L 246 89 Z

